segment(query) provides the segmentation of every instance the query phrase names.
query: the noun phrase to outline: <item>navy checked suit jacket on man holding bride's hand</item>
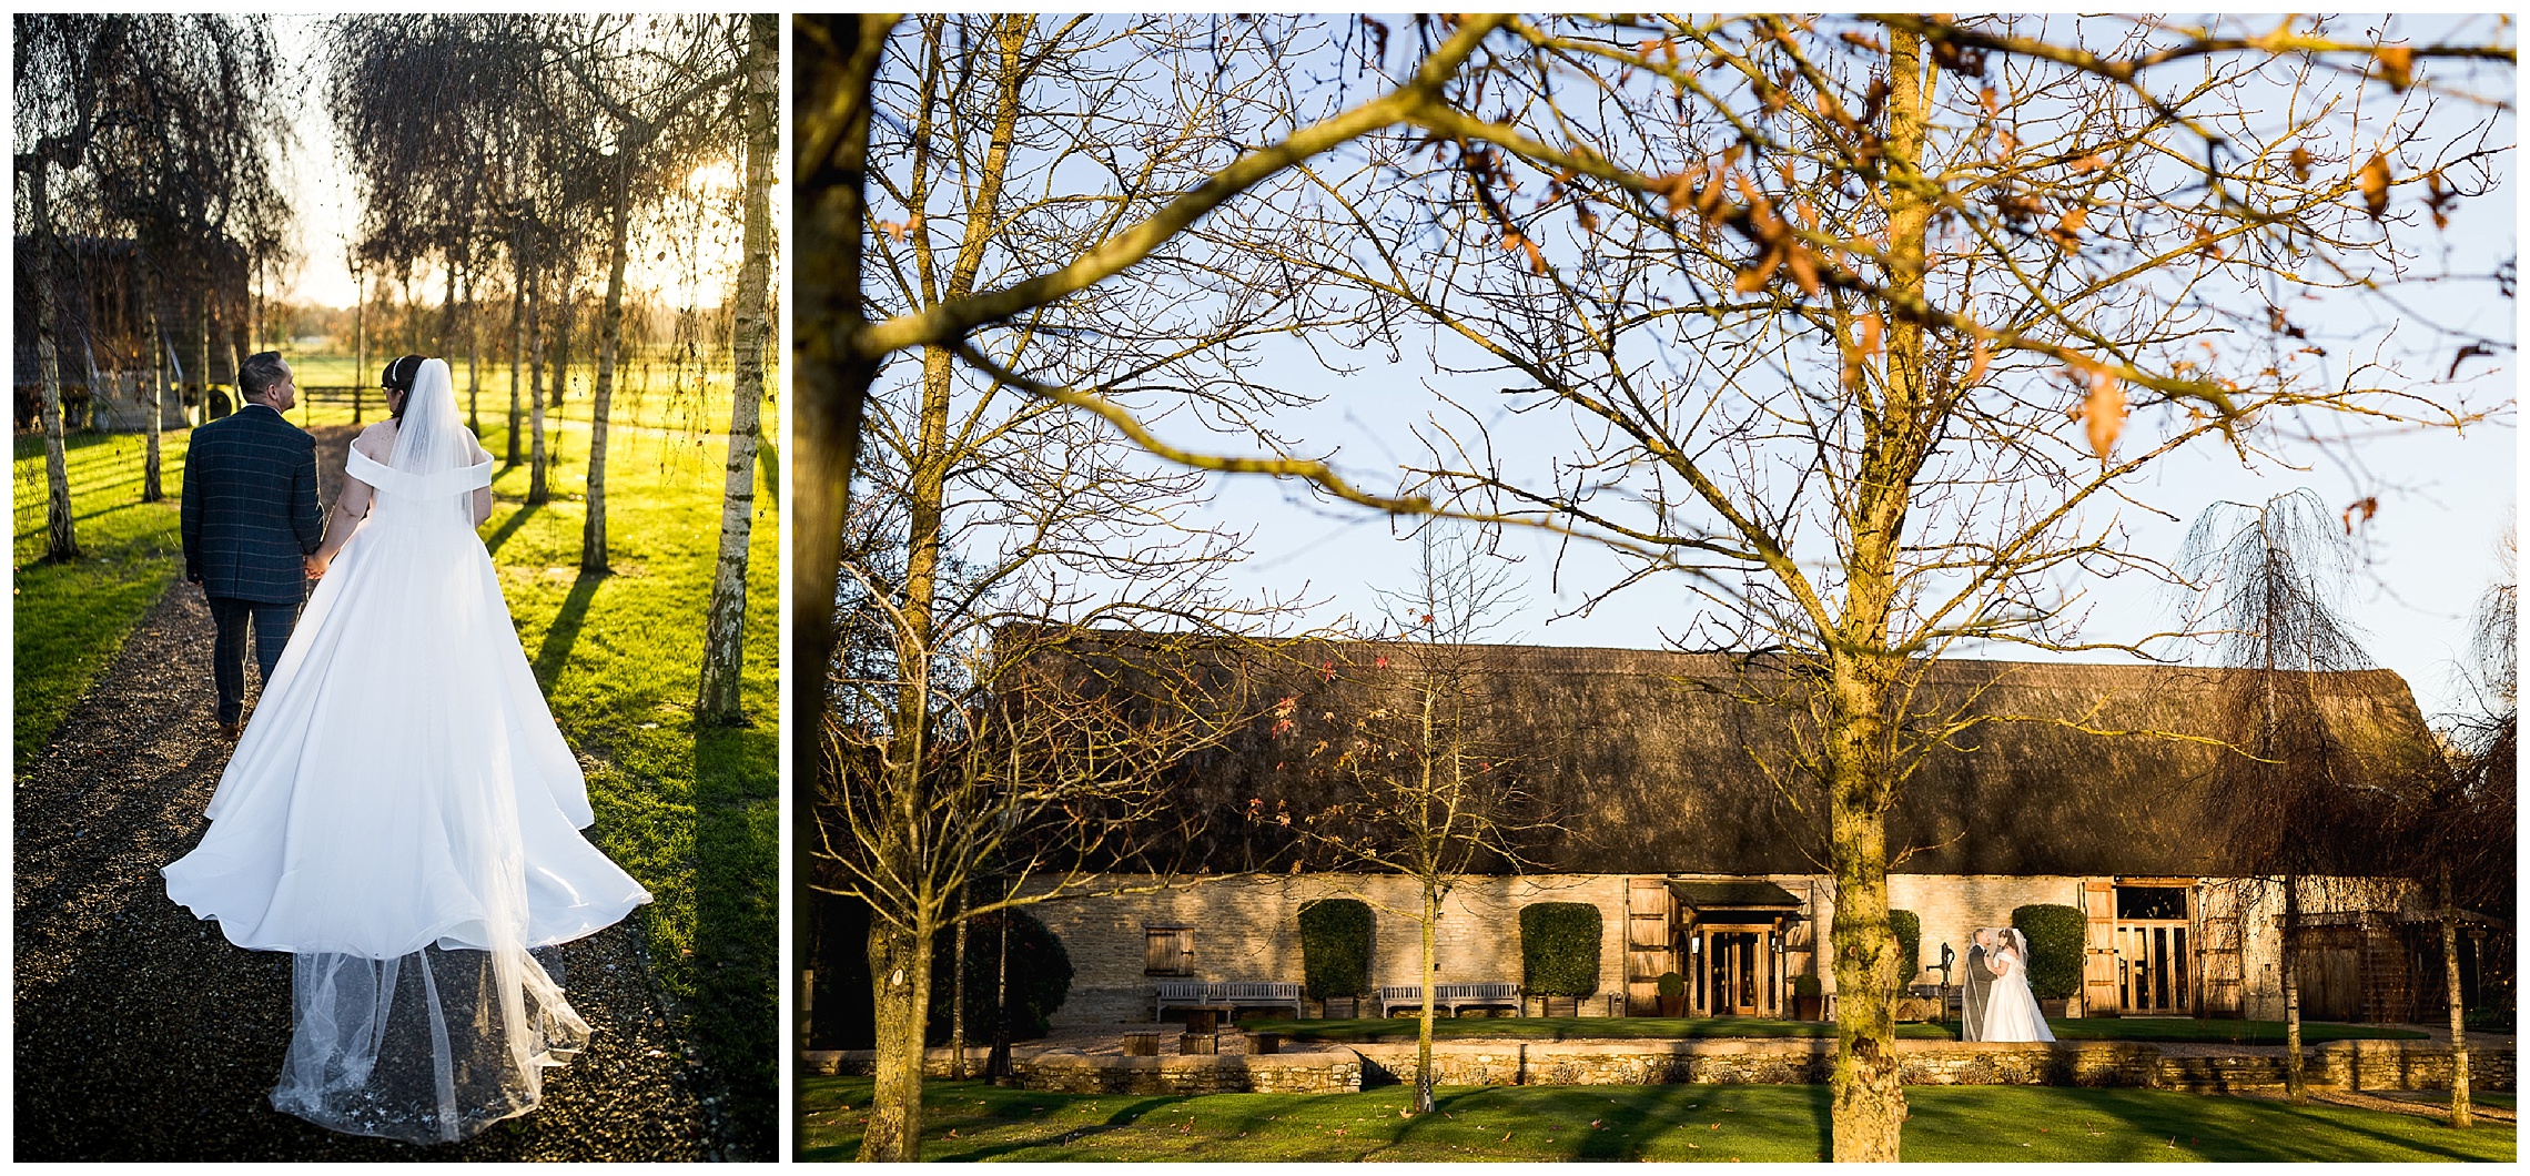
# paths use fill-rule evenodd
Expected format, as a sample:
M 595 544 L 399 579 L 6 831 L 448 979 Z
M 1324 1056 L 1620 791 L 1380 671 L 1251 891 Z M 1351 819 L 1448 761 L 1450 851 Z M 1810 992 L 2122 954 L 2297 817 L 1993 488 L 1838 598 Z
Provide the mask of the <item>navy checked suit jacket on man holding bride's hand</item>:
M 316 438 L 268 405 L 197 425 L 185 453 L 185 579 L 205 597 L 296 604 L 324 544 Z

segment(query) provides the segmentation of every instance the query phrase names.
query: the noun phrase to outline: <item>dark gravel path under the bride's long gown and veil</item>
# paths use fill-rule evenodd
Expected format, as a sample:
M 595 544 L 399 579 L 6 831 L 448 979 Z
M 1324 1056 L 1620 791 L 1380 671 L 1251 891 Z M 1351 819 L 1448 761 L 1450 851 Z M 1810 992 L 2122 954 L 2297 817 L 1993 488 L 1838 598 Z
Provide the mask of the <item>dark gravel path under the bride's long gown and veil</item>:
M 329 503 L 349 435 L 319 432 Z M 438 1148 L 273 1110 L 291 961 L 230 946 L 159 878 L 202 840 L 228 761 L 210 642 L 200 589 L 175 584 L 15 779 L 18 1161 L 754 1158 L 703 1105 L 630 921 L 559 948 L 559 979 L 597 1032 L 546 1072 L 541 1108 Z

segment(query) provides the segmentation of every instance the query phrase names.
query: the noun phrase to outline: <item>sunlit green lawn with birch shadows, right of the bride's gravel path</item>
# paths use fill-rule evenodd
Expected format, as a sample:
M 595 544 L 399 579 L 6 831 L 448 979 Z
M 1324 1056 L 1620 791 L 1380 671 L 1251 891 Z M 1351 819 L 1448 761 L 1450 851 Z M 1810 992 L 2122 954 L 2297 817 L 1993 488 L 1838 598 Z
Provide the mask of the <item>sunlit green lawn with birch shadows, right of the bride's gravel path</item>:
M 463 377 L 460 377 L 463 379 Z M 463 397 L 463 389 L 460 389 Z M 501 407 L 509 405 L 506 372 Z M 729 427 L 729 384 L 716 387 Z M 486 400 L 486 410 L 491 402 Z M 774 1120 L 779 905 L 779 526 L 756 483 L 746 564 L 744 706 L 751 726 L 696 728 L 703 617 L 721 541 L 721 432 L 612 427 L 607 561 L 579 574 L 587 400 L 546 415 L 552 501 L 526 506 L 526 465 L 498 470 L 483 541 L 554 718 L 589 766 L 589 837 L 655 900 L 640 908 L 655 974 L 688 1017 L 731 1113 L 759 1148 Z M 483 448 L 506 450 L 483 415 Z M 524 453 L 524 445 L 521 445 Z

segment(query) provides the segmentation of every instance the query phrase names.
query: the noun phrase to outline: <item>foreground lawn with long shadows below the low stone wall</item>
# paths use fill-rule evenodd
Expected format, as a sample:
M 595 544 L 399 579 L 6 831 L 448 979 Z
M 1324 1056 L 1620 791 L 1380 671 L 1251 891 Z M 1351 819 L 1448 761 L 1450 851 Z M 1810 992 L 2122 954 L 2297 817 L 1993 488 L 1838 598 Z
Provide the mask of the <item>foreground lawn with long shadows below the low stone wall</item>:
M 1407 1087 L 1359 1095 L 1050 1095 L 926 1082 L 926 1161 L 1796 1161 L 1824 1085 Z M 868 1077 L 810 1077 L 802 1161 L 860 1146 Z M 2510 1125 L 2173 1090 L 1913 1087 L 1910 1161 L 2512 1161 Z M 954 1133 L 954 1136 L 951 1136 Z

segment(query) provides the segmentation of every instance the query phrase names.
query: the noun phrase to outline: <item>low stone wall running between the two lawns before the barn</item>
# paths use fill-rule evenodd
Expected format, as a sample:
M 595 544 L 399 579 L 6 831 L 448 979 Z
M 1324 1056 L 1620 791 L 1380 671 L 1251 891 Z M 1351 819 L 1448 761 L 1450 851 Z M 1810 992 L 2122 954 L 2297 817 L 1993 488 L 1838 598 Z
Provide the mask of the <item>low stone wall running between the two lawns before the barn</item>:
M 868 1050 L 802 1055 L 815 1075 L 868 1075 Z M 982 1067 L 982 1055 L 969 1065 Z M 1688 1039 L 1688 1042 L 1437 1042 L 1440 1085 L 1670 1085 L 1670 1082 L 1827 1082 L 1832 1039 Z M 2166 1057 L 2143 1042 L 1897 1042 L 1905 1085 L 2077 1085 L 2161 1090 L 2282 1090 L 2285 1060 L 2274 1052 Z M 1414 1080 L 1414 1044 L 1285 1047 L 1278 1055 L 1118 1057 L 1080 1050 L 1035 1050 L 1012 1060 L 1027 1090 L 1083 1095 L 1212 1095 L 1331 1093 Z M 934 1050 L 923 1072 L 949 1077 L 949 1052 Z M 2328 1042 L 2312 1047 L 2305 1077 L 2320 1090 L 2447 1090 L 2452 1052 L 2434 1042 Z M 2512 1050 L 2472 1050 L 2469 1085 L 2515 1090 Z

